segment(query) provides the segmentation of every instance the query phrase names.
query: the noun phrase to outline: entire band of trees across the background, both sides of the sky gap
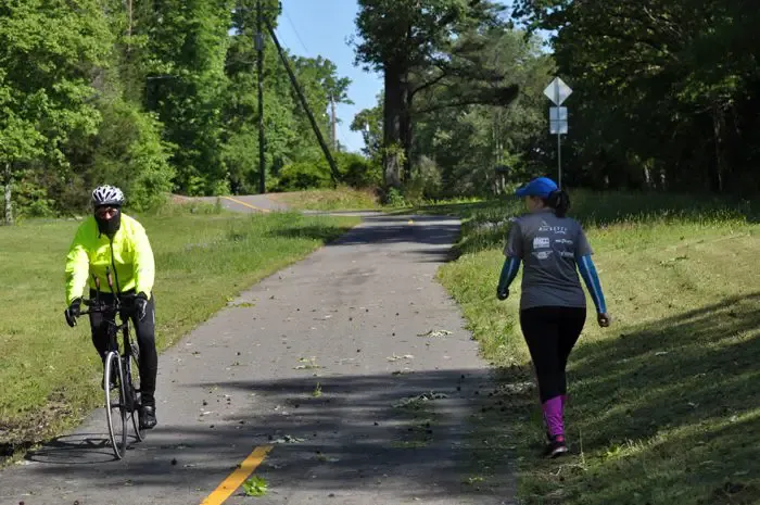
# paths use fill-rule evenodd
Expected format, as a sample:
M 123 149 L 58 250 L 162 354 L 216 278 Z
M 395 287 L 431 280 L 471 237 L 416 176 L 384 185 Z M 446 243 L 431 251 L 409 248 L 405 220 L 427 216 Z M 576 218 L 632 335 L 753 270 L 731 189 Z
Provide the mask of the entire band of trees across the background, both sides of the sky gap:
M 264 0 L 277 26 L 279 2 Z M 760 190 L 760 10 L 742 0 L 358 0 L 356 63 L 384 79 L 364 156 L 338 181 L 387 198 L 492 194 L 556 174 L 543 89 L 566 102 L 563 180 L 617 189 Z M 28 215 L 123 186 L 258 191 L 256 0 L 0 0 L 0 200 Z M 552 34 L 552 52 L 534 30 Z M 266 29 L 265 29 L 266 31 Z M 268 190 L 326 187 L 325 160 L 264 37 Z M 349 79 L 288 54 L 326 139 Z M 5 215 L 12 209 L 5 204 Z

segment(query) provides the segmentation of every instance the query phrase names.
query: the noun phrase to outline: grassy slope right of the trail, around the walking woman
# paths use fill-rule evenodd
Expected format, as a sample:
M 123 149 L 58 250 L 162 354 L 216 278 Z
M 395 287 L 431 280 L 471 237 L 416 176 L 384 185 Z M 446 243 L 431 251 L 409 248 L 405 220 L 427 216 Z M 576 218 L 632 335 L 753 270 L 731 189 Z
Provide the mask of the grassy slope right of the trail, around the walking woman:
M 583 192 L 573 202 L 613 325 L 600 329 L 588 300 L 568 370 L 572 454 L 553 462 L 540 457 L 520 277 L 506 302 L 494 294 L 503 222 L 518 203 L 428 209 L 466 219 L 461 255 L 440 278 L 498 371 L 495 408 L 479 415 L 473 435 L 490 441 L 478 465 L 516 460 L 523 504 L 760 503 L 757 202 Z

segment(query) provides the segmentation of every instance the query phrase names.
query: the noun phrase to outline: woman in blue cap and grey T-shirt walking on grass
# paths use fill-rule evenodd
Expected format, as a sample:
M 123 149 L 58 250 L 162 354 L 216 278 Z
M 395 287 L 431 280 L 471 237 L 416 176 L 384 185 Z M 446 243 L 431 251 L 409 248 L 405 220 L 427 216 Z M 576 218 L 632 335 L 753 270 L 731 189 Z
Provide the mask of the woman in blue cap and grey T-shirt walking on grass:
M 563 411 L 567 403 L 565 369 L 586 320 L 586 298 L 580 270 L 596 305 L 599 326 L 610 324 L 592 248 L 581 225 L 567 217 L 570 199 L 547 177 L 517 190 L 528 213 L 511 226 L 504 250 L 506 260 L 497 298 L 509 296 L 509 286 L 524 265 L 520 296 L 520 328 L 539 381 L 548 445 L 546 455 L 567 452 Z

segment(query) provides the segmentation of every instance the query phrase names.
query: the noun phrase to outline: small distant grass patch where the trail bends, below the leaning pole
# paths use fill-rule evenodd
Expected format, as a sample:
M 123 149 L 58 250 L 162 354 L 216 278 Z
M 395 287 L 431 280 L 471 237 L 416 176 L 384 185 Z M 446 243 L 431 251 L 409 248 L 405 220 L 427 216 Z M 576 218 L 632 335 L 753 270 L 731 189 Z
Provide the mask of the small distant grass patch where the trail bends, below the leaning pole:
M 368 211 L 382 209 L 372 191 L 353 188 L 270 193 L 269 198 L 299 211 Z

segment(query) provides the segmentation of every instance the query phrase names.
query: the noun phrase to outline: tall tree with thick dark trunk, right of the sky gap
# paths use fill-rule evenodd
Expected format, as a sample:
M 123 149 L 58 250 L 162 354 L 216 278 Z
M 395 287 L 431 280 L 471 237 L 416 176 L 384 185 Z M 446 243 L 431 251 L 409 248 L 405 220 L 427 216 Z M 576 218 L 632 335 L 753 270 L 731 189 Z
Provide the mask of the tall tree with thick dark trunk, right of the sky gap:
M 357 62 L 384 77 L 383 169 L 385 182 L 398 187 L 402 166 L 407 179 L 411 172 L 413 106 L 416 96 L 456 77 L 470 85 L 498 80 L 483 75 L 472 64 L 482 39 L 480 30 L 498 26 L 504 8 L 479 0 L 359 0 L 356 18 L 362 41 L 356 45 Z M 514 86 L 461 86 L 457 97 L 439 106 L 467 103 L 508 104 L 517 94 Z M 427 112 L 427 111 L 426 111 Z

